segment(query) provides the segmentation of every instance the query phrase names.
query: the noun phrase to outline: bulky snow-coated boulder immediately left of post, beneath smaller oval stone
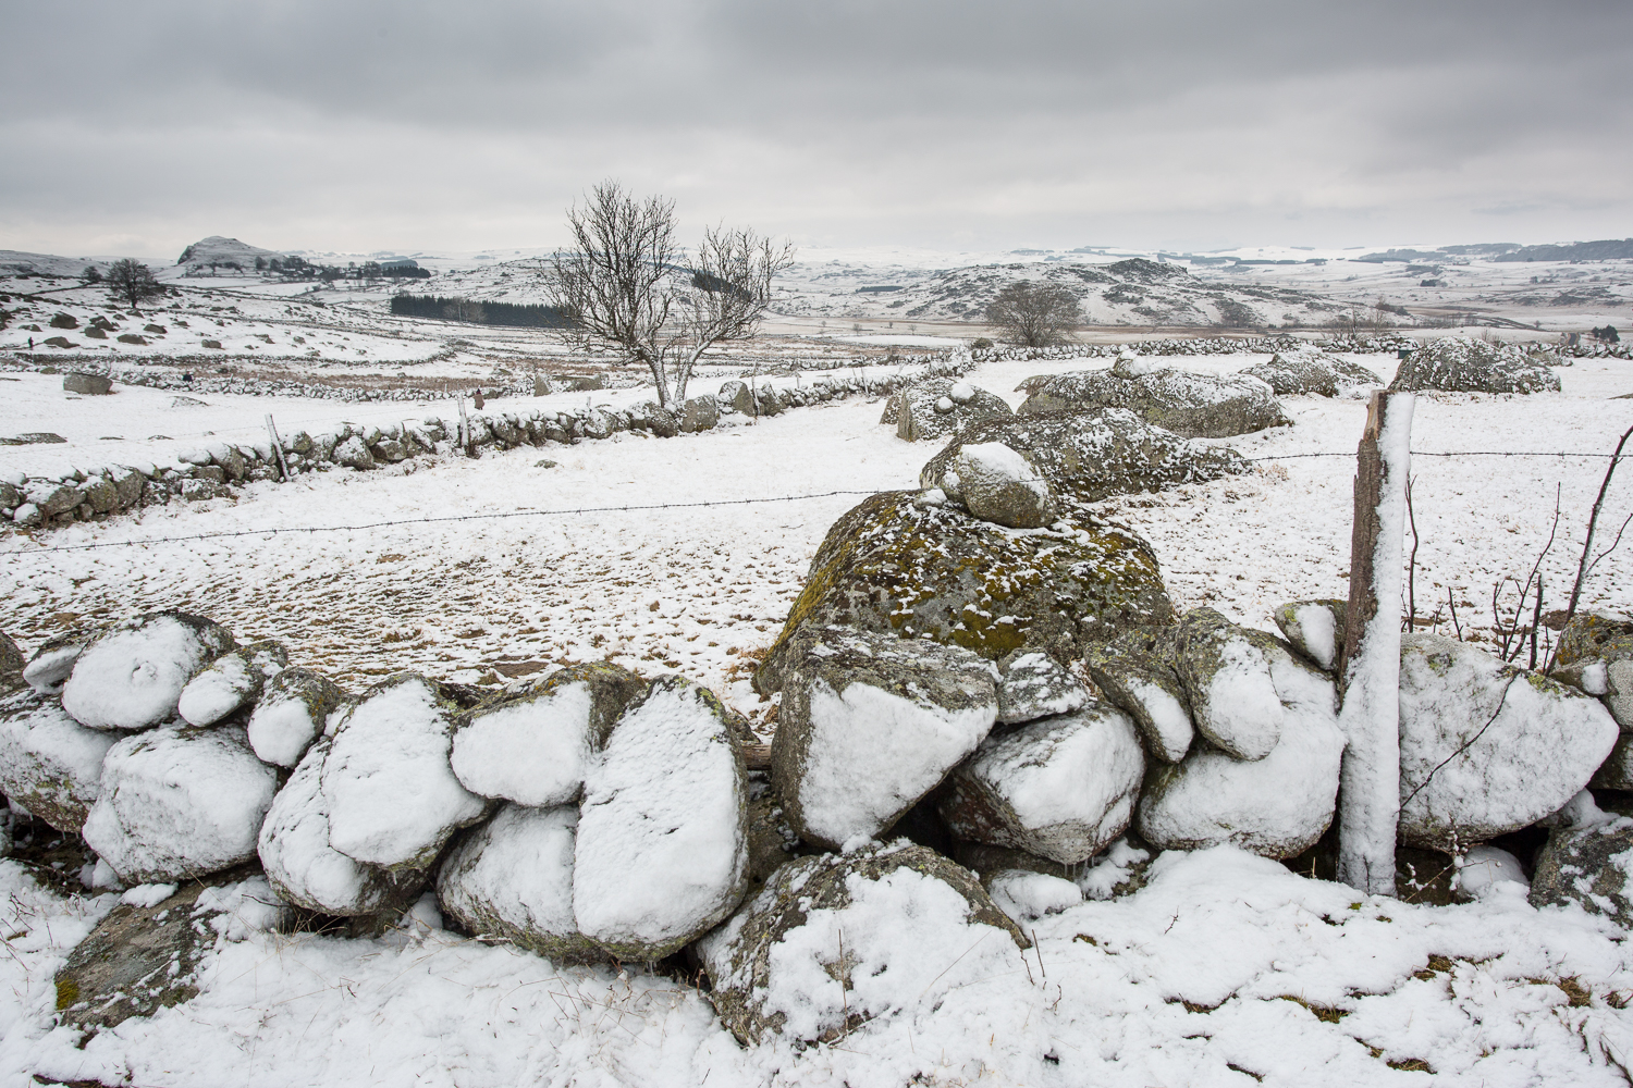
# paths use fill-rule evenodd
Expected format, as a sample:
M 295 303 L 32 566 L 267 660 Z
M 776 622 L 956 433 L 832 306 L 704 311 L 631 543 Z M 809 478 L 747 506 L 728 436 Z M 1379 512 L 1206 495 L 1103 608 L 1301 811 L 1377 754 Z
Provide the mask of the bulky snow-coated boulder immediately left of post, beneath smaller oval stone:
M 1285 651 L 1272 648 L 1267 657 L 1285 711 L 1275 747 L 1249 762 L 1199 745 L 1177 765 L 1153 767 L 1138 807 L 1138 830 L 1153 847 L 1233 843 L 1292 858 L 1333 822 L 1344 754 L 1337 692 Z

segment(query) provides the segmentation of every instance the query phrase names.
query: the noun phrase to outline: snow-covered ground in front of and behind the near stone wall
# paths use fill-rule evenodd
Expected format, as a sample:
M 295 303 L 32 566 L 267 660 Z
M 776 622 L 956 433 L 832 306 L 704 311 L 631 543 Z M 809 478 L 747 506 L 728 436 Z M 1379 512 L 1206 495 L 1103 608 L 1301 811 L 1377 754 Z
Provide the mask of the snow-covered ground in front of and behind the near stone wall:
M 1385 378 L 1393 369 L 1393 357 L 1354 359 Z M 1184 362 L 1236 370 L 1262 360 Z M 1083 365 L 990 364 L 970 380 L 1016 405 L 1022 378 Z M 1550 453 L 1416 460 L 1421 613 L 1450 587 L 1465 625 L 1489 623 L 1493 582 L 1524 577 L 1548 537 L 1556 484 L 1560 542 L 1543 573 L 1546 607 L 1563 607 L 1605 462 L 1553 453 L 1610 450 L 1633 422 L 1633 401 L 1612 400 L 1633 393 L 1633 364 L 1581 360 L 1558 374 L 1561 395 L 1419 398 L 1414 450 Z M 160 403 L 168 395 L 145 405 L 145 390 L 121 390 L 96 401 L 111 414 L 80 416 L 75 429 L 67 418 L 87 401 L 67 405 L 60 380 L 52 391 L 47 377 L 15 377 L 0 387 L 0 434 L 60 427 L 70 439 L 54 450 L 5 449 L 18 458 L 103 462 L 109 447 L 142 440 L 152 442 L 144 457 L 158 460 L 206 431 L 251 434 L 265 411 L 314 429 L 361 422 L 371 408 L 330 414 L 317 401 L 206 398 L 207 409 L 186 416 L 191 431 L 176 434 L 180 422 L 150 422 L 170 411 Z M 1284 405 L 1295 426 L 1230 440 L 1267 458 L 1251 476 L 1101 507 L 1153 543 L 1176 605 L 1207 604 L 1270 628 L 1269 610 L 1284 600 L 1347 592 L 1365 403 Z M 647 675 L 683 672 L 764 721 L 769 705 L 748 687 L 745 652 L 769 646 L 828 525 L 862 498 L 826 493 L 916 486 L 936 452 L 898 440 L 879 424 L 880 409 L 854 398 L 670 440 L 624 434 L 335 471 L 250 484 L 238 499 L 11 533 L 0 537 L 0 615 L 33 649 L 67 626 L 185 608 L 227 623 L 240 641 L 278 638 L 291 664 L 348 687 L 398 669 L 498 683 L 611 657 Z M 1298 453 L 1339 455 L 1269 460 Z M 813 494 L 823 498 L 741 502 Z M 668 509 L 604 509 L 625 506 Z M 596 509 L 568 512 L 585 507 Z M 1604 524 L 1630 511 L 1633 478 L 1623 473 Z M 300 532 L 333 527 L 343 529 Z M 1633 610 L 1628 553 L 1599 568 L 1584 607 Z M 741 1050 L 681 982 L 557 971 L 429 917 L 374 941 L 238 927 L 207 961 L 198 998 L 77 1049 L 51 1028 L 52 974 L 116 897 L 64 900 L 10 861 L 0 861 L 0 896 L 10 953 L 0 958 L 0 993 L 10 995 L 0 1000 L 0 1077 L 20 1085 L 38 1073 L 173 1086 L 1517 1086 L 1626 1085 L 1633 1067 L 1633 1015 L 1620 1008 L 1633 995 L 1633 956 L 1609 922 L 1537 912 L 1501 886 L 1460 907 L 1370 899 L 1230 848 L 1164 855 L 1138 894 L 1039 918 L 1037 948 L 1024 956 L 911 948 L 900 974 L 916 982 L 900 993 L 903 1011 L 803 1052 Z

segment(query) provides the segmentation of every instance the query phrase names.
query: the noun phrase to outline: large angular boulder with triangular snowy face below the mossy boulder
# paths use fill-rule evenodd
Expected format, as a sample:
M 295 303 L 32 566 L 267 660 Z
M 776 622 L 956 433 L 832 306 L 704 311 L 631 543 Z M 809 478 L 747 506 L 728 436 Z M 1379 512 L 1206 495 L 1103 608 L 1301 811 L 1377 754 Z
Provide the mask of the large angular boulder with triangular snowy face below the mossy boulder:
M 959 646 L 839 628 L 802 636 L 771 742 L 794 830 L 831 848 L 892 827 L 991 731 L 994 674 Z

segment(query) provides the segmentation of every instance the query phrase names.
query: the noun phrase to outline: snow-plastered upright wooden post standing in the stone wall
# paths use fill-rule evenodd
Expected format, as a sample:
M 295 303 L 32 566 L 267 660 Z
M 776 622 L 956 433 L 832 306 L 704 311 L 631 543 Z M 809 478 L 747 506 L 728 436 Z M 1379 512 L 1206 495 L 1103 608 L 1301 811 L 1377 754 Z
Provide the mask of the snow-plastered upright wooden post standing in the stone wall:
M 1377 613 L 1355 641 L 1354 661 L 1344 677 L 1339 728 L 1344 752 L 1342 804 L 1339 807 L 1339 878 L 1368 892 L 1395 889 L 1395 835 L 1401 804 L 1399 703 L 1401 672 L 1399 600 L 1404 586 L 1401 561 L 1406 537 L 1406 483 L 1411 478 L 1413 393 L 1378 395 L 1377 445 L 1382 462 L 1378 488 L 1378 538 L 1372 555 Z M 1388 406 L 1385 409 L 1385 406 Z M 1354 633 L 1349 638 L 1355 638 Z

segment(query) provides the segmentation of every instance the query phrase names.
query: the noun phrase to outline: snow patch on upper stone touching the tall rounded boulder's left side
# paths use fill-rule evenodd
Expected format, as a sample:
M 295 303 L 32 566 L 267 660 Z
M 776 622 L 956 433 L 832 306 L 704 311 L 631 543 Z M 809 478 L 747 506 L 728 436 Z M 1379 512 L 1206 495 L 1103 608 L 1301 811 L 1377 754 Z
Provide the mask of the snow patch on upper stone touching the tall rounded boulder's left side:
M 578 680 L 477 713 L 454 734 L 454 775 L 483 798 L 570 804 L 593 757 L 591 708 L 590 685 Z

